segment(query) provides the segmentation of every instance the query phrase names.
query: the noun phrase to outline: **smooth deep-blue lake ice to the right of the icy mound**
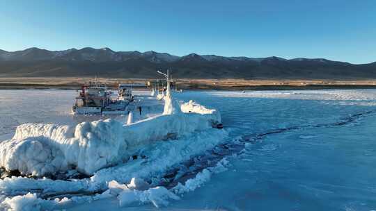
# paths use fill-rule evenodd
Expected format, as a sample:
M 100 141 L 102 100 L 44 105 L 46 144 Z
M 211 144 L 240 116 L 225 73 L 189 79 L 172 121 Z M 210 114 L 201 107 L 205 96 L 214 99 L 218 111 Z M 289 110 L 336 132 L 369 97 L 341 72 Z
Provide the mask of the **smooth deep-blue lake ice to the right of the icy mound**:
M 191 94 L 179 97 L 189 99 Z M 214 174 L 209 183 L 169 209 L 376 210 L 376 115 L 325 126 L 374 112 L 374 99 L 194 95 L 196 101 L 221 110 L 233 137 L 291 126 L 324 126 L 267 135 L 247 144 L 245 151 L 230 158 L 228 171 Z

